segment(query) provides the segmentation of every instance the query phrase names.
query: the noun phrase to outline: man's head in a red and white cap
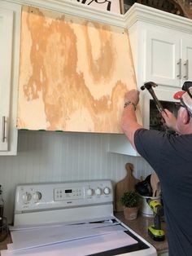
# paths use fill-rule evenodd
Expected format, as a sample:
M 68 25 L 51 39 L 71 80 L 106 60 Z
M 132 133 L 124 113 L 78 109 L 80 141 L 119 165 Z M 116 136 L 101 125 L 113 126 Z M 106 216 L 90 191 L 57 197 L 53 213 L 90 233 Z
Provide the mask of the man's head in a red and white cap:
M 192 132 L 192 82 L 185 82 L 182 90 L 174 95 L 174 99 L 180 99 L 181 108 L 177 115 L 177 130 L 181 134 Z

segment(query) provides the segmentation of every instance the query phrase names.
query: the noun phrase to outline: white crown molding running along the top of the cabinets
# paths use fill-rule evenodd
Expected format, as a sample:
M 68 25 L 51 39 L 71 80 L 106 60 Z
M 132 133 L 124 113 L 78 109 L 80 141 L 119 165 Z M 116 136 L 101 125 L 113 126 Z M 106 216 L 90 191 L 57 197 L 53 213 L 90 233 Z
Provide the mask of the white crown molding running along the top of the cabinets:
M 116 25 L 121 28 L 131 27 L 137 20 L 158 24 L 170 29 L 192 33 L 192 20 L 165 11 L 135 3 L 124 15 L 115 12 L 102 11 L 70 0 L 0 0 L 22 5 L 41 7 L 51 11 L 59 11 L 76 15 L 88 20 Z

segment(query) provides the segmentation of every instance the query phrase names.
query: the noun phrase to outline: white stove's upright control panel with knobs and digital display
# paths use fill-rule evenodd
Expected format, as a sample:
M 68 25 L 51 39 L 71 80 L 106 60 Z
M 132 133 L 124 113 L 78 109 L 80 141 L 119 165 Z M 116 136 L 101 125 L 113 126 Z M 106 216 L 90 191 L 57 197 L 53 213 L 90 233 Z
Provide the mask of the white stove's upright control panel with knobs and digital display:
M 32 183 L 17 186 L 15 213 L 107 204 L 113 201 L 110 180 Z

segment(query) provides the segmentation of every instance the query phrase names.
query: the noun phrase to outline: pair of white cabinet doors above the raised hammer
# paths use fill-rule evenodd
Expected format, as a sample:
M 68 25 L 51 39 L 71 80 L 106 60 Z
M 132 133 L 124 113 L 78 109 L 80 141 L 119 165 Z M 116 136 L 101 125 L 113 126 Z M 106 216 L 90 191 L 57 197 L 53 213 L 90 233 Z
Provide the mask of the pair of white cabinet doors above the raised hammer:
M 180 88 L 192 79 L 192 39 L 188 33 L 160 30 L 146 28 L 143 82 Z

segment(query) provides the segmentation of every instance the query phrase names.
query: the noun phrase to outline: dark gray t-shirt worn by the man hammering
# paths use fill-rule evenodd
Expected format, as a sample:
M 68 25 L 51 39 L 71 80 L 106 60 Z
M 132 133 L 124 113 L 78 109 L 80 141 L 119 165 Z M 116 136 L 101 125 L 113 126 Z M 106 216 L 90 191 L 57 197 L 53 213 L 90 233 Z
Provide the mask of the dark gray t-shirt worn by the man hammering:
M 192 135 L 139 129 L 137 152 L 158 174 L 166 219 L 169 256 L 192 255 Z

